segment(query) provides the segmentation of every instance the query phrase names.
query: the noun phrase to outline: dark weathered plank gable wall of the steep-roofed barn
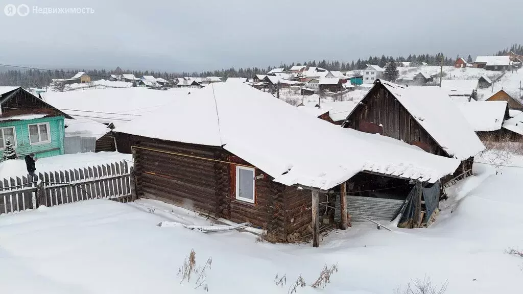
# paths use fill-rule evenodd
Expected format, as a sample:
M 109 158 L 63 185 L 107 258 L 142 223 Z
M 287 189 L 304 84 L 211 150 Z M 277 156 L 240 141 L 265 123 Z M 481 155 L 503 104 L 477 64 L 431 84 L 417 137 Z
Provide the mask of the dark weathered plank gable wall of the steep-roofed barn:
M 448 156 L 384 86 L 373 88 L 361 102 L 349 117 L 346 127 L 359 130 L 361 121 L 377 126 L 381 124 L 382 135 L 423 146 L 427 152 L 436 155 Z

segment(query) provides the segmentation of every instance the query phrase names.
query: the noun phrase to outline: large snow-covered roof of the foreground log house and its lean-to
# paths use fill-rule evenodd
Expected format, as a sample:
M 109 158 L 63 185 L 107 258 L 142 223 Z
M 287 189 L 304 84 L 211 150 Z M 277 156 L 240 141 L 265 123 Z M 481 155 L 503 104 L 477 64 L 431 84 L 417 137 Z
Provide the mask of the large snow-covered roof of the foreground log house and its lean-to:
M 187 109 L 198 109 L 200 119 Z M 248 121 L 254 129 L 242 123 Z M 166 123 L 184 128 L 158 128 Z M 210 84 L 116 131 L 222 146 L 288 186 L 329 189 L 362 171 L 435 182 L 459 165 L 392 138 L 340 128 L 244 84 Z M 325 149 L 322 138 L 328 152 L 311 156 Z

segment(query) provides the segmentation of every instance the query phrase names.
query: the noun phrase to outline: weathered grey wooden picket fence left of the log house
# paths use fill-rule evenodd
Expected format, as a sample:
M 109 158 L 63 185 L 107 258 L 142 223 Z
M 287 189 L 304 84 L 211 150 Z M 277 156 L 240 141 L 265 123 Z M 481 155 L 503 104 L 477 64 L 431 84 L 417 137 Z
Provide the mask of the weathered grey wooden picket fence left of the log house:
M 29 175 L 4 178 L 0 180 L 0 214 L 95 198 L 133 201 L 132 174 L 127 161 L 119 161 L 38 173 L 34 180 Z

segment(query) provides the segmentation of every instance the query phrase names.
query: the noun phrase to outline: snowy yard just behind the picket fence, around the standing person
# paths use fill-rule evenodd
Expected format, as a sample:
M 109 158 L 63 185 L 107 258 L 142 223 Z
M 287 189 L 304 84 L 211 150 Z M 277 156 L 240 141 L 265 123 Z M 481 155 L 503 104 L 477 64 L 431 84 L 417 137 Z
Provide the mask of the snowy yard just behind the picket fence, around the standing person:
M 118 152 L 64 154 L 39 159 L 36 162 L 36 172 L 62 171 L 64 169 L 87 167 L 95 164 L 113 163 L 123 159 L 132 161 L 132 155 Z M 23 158 L 0 162 L 0 179 L 26 175 L 27 168 Z

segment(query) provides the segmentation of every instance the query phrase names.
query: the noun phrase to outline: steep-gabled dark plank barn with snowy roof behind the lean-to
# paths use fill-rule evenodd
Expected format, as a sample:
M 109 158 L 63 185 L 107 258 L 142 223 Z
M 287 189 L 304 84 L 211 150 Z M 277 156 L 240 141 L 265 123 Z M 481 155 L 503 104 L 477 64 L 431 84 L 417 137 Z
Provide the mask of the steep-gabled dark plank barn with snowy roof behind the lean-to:
M 342 127 L 380 133 L 429 153 L 456 158 L 462 161 L 464 171 L 472 168 L 470 158 L 485 149 L 467 119 L 438 86 L 403 87 L 377 80 Z

